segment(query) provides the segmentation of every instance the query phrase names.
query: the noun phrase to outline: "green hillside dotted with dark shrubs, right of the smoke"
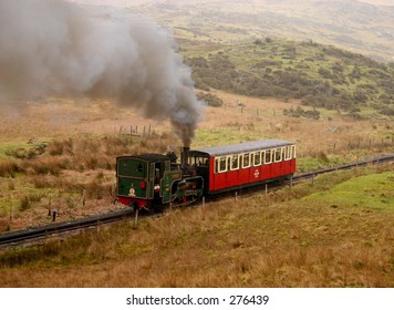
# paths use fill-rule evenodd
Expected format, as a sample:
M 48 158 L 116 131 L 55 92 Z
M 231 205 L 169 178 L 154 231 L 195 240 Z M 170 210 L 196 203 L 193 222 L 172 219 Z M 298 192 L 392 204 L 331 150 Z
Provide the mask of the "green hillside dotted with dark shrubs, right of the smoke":
M 394 66 L 334 46 L 270 38 L 249 44 L 182 44 L 196 86 L 304 105 L 394 115 Z

